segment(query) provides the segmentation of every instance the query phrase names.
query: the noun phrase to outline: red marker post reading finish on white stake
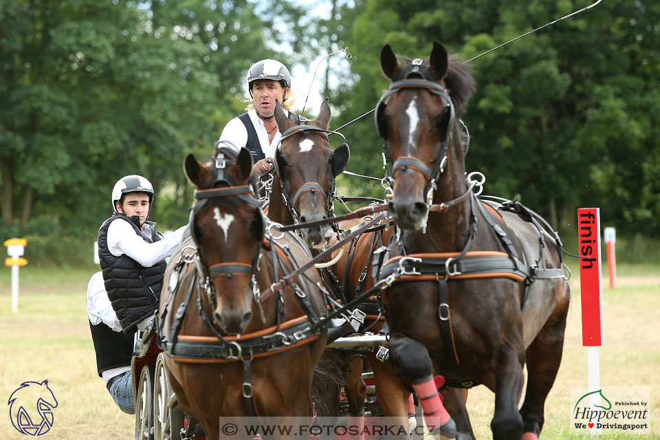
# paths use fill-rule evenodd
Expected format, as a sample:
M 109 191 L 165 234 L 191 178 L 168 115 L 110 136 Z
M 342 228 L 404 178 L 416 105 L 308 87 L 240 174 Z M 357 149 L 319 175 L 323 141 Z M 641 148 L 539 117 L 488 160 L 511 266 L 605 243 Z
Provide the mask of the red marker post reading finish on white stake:
M 598 347 L 603 344 L 603 289 L 600 259 L 600 210 L 577 210 L 577 236 L 580 241 L 580 291 L 582 294 L 582 345 L 588 357 L 589 392 L 600 388 L 600 360 Z M 602 408 L 599 393 L 589 396 L 592 410 Z M 599 434 L 596 426 L 591 434 Z

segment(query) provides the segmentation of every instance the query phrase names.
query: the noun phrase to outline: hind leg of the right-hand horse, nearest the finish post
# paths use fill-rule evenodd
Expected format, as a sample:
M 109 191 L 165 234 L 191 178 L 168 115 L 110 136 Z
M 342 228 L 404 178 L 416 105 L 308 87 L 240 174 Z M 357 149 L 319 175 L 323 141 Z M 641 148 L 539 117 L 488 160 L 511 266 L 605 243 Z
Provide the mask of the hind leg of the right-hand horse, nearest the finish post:
M 525 434 L 522 440 L 538 440 L 543 428 L 545 399 L 562 361 L 564 330 L 569 302 L 555 310 L 527 349 L 527 391 L 520 408 Z

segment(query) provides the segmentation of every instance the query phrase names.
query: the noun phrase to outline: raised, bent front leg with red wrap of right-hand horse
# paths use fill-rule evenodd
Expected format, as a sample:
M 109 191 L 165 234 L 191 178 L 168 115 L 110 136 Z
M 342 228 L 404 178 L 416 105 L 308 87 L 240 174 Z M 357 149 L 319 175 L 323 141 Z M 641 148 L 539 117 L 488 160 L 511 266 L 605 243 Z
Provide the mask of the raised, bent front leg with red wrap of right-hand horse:
M 394 335 L 390 339 L 390 359 L 399 377 L 415 390 L 424 412 L 424 421 L 431 433 L 450 439 L 456 437 L 456 424 L 442 404 L 426 347 L 416 340 Z M 406 395 L 404 401 L 407 400 Z

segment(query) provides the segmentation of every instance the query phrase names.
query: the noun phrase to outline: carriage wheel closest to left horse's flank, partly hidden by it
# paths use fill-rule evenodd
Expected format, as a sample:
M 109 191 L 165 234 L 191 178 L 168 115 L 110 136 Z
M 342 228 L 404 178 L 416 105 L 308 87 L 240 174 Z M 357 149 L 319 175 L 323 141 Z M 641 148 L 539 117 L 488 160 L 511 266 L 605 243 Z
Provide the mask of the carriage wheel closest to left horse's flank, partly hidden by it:
M 168 406 L 173 391 L 165 371 L 164 356 L 163 353 L 159 353 L 156 361 L 153 385 L 153 436 L 154 440 L 180 440 L 181 428 L 184 427 L 184 412 L 178 405 L 174 408 Z

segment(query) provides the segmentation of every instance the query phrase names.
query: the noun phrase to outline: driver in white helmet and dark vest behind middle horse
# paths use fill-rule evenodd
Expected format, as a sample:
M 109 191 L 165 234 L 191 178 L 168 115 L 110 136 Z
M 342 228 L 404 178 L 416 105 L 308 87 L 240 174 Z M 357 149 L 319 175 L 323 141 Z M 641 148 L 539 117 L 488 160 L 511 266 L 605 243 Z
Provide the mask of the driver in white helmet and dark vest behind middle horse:
M 241 147 L 252 153 L 258 173 L 265 173 L 273 166 L 275 149 L 281 138 L 275 120 L 275 102 L 287 110 L 290 120 L 298 121 L 298 114 L 291 111 L 296 100 L 292 98 L 291 75 L 283 63 L 261 60 L 248 70 L 246 78 L 250 104 L 247 112 L 230 120 L 223 129 L 219 143 L 230 146 L 236 152 Z

